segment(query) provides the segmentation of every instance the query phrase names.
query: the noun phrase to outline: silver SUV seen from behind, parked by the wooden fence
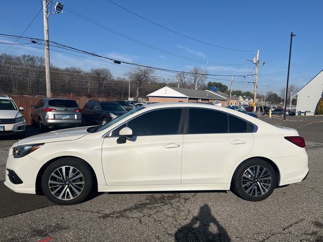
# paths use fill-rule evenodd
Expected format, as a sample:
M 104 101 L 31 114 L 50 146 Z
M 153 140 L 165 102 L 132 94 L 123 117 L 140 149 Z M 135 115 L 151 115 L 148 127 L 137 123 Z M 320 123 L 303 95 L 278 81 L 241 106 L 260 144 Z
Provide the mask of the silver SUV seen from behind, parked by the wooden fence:
M 31 125 L 37 124 L 40 132 L 46 128 L 82 125 L 81 109 L 73 99 L 42 98 L 31 107 Z

